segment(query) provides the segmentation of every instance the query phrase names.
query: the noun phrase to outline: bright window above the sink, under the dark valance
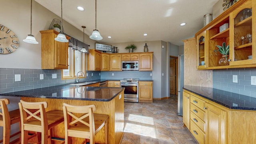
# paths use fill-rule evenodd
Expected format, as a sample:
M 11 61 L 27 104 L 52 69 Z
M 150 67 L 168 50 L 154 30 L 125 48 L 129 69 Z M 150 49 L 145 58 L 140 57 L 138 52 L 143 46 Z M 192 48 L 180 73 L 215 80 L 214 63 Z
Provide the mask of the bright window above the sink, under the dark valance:
M 62 70 L 62 79 L 74 79 L 77 72 L 85 72 L 85 54 L 68 48 L 68 69 Z M 79 73 L 82 76 L 82 73 Z

